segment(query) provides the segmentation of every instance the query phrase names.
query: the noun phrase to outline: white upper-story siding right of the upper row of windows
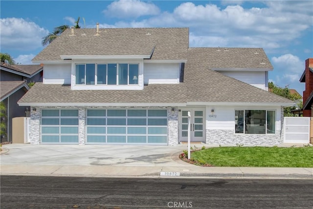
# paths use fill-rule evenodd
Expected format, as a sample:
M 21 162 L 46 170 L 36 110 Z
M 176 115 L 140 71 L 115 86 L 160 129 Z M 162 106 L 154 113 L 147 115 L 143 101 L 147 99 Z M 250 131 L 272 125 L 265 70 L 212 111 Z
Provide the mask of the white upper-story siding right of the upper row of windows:
M 179 63 L 144 63 L 144 83 L 179 83 Z

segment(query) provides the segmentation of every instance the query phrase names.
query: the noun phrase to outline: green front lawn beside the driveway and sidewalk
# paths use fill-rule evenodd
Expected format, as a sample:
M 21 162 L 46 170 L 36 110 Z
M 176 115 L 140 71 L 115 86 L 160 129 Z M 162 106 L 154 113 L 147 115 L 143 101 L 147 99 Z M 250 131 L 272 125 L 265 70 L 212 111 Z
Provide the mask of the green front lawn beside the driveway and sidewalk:
M 313 147 L 214 147 L 192 152 L 191 159 L 225 167 L 313 167 Z

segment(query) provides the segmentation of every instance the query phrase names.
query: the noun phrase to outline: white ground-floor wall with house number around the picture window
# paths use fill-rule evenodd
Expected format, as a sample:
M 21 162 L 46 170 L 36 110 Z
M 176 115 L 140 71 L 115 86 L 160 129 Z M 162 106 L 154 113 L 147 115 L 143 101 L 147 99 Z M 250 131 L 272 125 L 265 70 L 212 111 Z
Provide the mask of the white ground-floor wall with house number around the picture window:
M 214 112 L 212 112 L 214 110 Z M 207 106 L 206 129 L 207 130 L 235 130 L 235 110 L 274 110 L 276 111 L 275 130 L 280 131 L 280 106 Z

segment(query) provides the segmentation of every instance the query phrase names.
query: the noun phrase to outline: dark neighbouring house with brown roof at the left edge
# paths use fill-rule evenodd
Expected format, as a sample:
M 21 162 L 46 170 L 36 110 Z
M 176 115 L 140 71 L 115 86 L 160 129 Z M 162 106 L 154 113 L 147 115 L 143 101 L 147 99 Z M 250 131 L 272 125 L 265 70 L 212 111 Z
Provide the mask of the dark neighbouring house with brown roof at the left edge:
M 30 107 L 18 105 L 18 101 L 29 90 L 27 83 L 43 81 L 43 67 L 40 65 L 9 65 L 0 63 L 0 101 L 6 108 L 6 118 L 1 122 L 6 125 L 6 135 L 1 142 L 12 142 L 12 118 L 29 116 Z

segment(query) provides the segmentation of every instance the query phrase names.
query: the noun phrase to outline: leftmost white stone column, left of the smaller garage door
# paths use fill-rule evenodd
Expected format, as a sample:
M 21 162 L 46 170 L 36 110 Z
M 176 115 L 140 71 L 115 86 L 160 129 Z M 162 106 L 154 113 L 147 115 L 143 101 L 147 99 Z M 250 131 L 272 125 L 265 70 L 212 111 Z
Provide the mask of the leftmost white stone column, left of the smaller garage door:
M 33 111 L 36 110 L 36 111 Z M 30 143 L 41 143 L 41 109 L 39 107 L 30 107 Z

